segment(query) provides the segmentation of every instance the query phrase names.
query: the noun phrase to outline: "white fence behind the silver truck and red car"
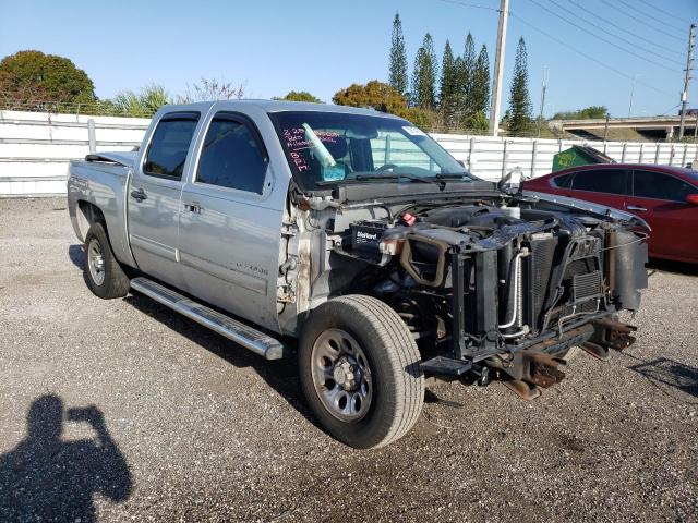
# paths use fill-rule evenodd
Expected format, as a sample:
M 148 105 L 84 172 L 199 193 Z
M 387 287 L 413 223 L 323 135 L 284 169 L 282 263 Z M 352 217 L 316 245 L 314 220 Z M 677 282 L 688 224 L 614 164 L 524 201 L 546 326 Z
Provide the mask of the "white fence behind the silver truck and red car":
M 142 118 L 81 117 L 0 111 L 0 196 L 65 193 L 68 161 L 89 153 L 88 120 L 98 151 L 129 150 L 149 123 Z M 534 177 L 551 171 L 553 156 L 571 145 L 589 145 L 617 161 L 698 165 L 698 145 L 639 142 L 585 142 L 433 134 L 469 170 L 486 180 L 520 168 Z

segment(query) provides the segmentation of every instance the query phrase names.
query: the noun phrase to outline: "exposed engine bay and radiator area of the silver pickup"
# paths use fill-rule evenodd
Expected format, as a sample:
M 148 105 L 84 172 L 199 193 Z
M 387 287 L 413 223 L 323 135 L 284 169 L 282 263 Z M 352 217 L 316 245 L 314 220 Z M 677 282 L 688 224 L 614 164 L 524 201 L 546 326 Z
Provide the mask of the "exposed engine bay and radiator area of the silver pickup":
M 426 373 L 488 379 L 496 369 L 515 387 L 547 387 L 570 348 L 603 358 L 634 341 L 616 319 L 647 287 L 647 234 L 631 223 L 522 195 L 315 207 L 327 256 L 310 300 L 364 293 L 389 304 Z

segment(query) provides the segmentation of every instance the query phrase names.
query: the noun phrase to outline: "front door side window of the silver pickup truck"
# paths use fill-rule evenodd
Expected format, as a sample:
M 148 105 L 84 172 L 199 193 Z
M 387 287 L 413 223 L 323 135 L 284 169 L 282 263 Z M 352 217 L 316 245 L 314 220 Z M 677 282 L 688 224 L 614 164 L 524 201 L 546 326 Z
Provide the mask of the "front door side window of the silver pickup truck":
M 201 151 L 198 183 L 262 194 L 266 167 L 266 153 L 249 122 L 226 113 L 214 117 Z

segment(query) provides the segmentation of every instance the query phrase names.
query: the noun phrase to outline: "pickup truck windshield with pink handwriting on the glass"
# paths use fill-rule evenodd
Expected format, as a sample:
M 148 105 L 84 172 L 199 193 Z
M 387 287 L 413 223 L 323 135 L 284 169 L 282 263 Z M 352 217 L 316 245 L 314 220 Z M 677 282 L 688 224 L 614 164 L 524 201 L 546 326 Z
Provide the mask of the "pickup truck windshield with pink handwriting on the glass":
M 269 113 L 293 178 L 306 191 L 342 183 L 472 181 L 465 168 L 405 120 L 341 112 Z

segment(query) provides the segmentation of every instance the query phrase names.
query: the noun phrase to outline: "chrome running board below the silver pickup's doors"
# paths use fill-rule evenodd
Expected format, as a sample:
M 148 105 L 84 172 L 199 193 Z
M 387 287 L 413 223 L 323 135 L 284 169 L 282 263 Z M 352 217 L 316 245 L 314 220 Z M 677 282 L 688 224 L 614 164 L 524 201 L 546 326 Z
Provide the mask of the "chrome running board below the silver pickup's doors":
M 201 303 L 196 303 L 153 280 L 142 277 L 134 278 L 131 280 L 131 289 L 225 336 L 266 360 L 280 360 L 284 357 L 284 344 L 277 339 Z

